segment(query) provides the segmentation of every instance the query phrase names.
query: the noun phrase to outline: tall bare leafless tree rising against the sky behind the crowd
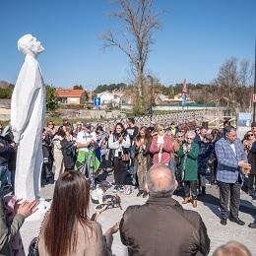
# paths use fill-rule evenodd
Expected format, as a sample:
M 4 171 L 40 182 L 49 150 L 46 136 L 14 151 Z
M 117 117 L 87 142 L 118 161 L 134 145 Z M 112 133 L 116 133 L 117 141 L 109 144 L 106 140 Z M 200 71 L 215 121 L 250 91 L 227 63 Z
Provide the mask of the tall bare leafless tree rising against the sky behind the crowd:
M 117 47 L 124 52 L 134 71 L 138 96 L 143 96 L 145 66 L 149 58 L 153 33 L 159 30 L 160 23 L 154 13 L 155 0 L 115 0 L 119 10 L 112 17 L 119 19 L 122 28 L 119 32 L 109 30 L 101 35 L 105 47 Z

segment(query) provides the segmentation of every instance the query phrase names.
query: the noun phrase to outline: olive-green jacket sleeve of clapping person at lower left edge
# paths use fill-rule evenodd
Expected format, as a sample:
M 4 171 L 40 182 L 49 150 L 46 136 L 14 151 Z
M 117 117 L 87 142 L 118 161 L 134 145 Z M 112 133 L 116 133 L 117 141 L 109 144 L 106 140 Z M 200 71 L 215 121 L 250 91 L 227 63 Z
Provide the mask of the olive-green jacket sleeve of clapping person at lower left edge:
M 7 226 L 4 213 L 4 202 L 0 197 L 0 256 L 9 256 L 11 251 L 9 242 L 20 230 L 25 218 L 22 215 L 16 215 L 11 226 Z

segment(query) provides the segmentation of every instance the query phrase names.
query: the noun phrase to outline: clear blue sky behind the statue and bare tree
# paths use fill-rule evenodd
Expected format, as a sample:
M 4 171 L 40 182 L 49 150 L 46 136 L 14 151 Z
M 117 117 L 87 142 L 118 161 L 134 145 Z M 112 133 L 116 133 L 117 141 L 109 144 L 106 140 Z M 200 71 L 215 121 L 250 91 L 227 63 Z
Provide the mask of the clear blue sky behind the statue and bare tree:
M 15 83 L 24 57 L 17 40 L 34 34 L 46 51 L 38 60 L 56 87 L 129 83 L 129 61 L 103 50 L 100 33 L 118 26 L 110 0 L 0 0 L 0 80 Z M 255 0 L 156 0 L 161 29 L 147 71 L 164 85 L 210 83 L 226 58 L 254 60 Z

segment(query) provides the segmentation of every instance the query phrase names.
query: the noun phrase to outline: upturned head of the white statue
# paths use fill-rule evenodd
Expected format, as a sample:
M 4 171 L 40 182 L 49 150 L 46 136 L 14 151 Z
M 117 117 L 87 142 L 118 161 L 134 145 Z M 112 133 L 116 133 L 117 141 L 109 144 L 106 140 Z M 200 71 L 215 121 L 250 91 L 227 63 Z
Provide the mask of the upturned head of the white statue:
M 44 48 L 40 41 L 37 41 L 32 34 L 28 33 L 18 40 L 18 50 L 20 50 L 24 55 L 31 55 L 36 58 L 40 52 L 44 51 Z

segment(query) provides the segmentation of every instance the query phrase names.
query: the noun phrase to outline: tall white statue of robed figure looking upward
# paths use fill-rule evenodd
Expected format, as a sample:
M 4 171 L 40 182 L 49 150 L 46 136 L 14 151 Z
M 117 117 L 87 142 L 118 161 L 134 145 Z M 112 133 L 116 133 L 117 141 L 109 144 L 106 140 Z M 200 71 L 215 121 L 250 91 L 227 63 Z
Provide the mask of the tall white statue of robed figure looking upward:
M 45 116 L 45 93 L 37 55 L 44 50 L 32 34 L 18 40 L 26 55 L 12 96 L 11 125 L 18 146 L 15 195 L 33 200 L 40 189 L 41 132 Z

